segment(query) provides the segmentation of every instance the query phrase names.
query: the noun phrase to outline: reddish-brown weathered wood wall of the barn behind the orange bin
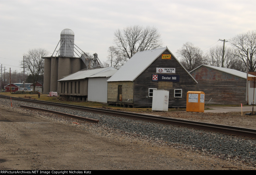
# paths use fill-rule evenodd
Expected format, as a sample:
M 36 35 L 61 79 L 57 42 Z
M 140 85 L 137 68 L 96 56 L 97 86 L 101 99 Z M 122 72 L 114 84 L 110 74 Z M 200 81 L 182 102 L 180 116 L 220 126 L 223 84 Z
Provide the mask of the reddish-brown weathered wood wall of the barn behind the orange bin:
M 197 90 L 205 92 L 205 103 L 246 103 L 246 79 L 216 69 L 201 66 L 191 75 L 197 80 Z

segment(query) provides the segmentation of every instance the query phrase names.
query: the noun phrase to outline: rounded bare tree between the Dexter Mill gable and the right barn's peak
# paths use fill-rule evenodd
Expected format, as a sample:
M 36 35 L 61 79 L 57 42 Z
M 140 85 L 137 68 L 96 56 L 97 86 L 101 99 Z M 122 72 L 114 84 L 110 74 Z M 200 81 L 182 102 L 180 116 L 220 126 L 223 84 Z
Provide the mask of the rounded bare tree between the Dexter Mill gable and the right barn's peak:
M 206 59 L 203 57 L 203 52 L 199 47 L 187 42 L 183 44 L 181 49 L 178 49 L 178 57 L 180 63 L 188 70 L 191 71 L 201 64 L 207 64 Z

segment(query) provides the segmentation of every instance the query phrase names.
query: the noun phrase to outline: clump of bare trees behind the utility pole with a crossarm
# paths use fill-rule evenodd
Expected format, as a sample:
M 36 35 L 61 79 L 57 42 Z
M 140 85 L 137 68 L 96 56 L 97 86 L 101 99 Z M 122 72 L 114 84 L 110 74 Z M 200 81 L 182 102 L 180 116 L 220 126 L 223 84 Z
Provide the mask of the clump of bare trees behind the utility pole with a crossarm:
M 223 54 L 222 46 L 216 46 L 216 47 L 210 48 L 206 56 L 208 60 L 208 64 L 212 66 L 221 67 L 222 54 Z M 245 70 L 242 60 L 240 60 L 240 58 L 235 56 L 235 50 L 233 48 L 230 48 L 230 47 L 224 48 L 224 68 L 235 69 L 238 71 Z

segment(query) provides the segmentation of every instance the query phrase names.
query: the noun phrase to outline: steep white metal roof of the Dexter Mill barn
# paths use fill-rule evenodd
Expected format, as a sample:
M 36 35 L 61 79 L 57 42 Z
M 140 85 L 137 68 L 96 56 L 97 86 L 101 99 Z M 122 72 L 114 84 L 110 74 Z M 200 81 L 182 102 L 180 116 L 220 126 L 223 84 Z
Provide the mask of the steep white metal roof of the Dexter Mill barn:
M 128 60 L 112 77 L 110 77 L 107 80 L 107 82 L 135 80 L 166 49 L 170 52 L 170 50 L 167 47 L 163 47 L 163 48 L 159 48 L 159 49 L 152 49 L 152 50 L 146 50 L 146 51 L 135 53 L 130 60 Z M 170 53 L 172 54 L 172 52 L 170 52 Z M 173 54 L 172 54 L 172 56 L 173 56 Z M 175 56 L 173 56 L 173 57 L 175 58 Z M 188 71 L 185 68 L 184 68 L 184 70 L 188 73 Z M 193 78 L 195 82 L 197 82 L 193 76 L 190 75 L 190 77 Z

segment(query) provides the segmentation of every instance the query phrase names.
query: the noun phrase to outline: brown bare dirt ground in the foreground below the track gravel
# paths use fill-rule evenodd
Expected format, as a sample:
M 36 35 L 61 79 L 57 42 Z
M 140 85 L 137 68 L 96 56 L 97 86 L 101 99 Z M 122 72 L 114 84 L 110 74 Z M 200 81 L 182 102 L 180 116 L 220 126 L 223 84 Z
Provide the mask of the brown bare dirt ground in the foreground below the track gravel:
M 95 124 L 84 122 L 81 125 L 88 129 L 82 130 L 81 125 L 73 124 L 76 120 L 69 118 L 59 122 L 48 119 L 56 117 L 52 114 L 33 112 L 33 115 L 25 115 L 6 107 L 0 107 L 0 110 L 1 170 L 253 169 L 210 155 L 175 149 L 171 145 L 133 139 L 126 134 L 113 135 L 104 129 L 95 132 Z M 214 117 L 211 114 L 206 117 L 187 114 L 165 115 L 183 119 Z M 219 118 L 224 117 L 230 116 Z

